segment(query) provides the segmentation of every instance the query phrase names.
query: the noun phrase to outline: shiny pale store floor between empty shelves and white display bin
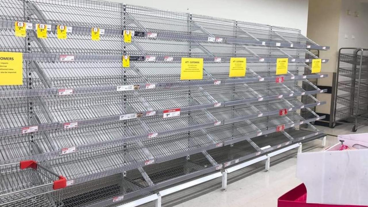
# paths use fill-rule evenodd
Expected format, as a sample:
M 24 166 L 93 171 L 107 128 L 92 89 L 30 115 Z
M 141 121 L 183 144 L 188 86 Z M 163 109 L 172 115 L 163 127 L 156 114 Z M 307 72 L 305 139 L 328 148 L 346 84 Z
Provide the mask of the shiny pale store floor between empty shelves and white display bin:
M 324 130 L 326 145 L 337 143 L 336 135 L 350 134 L 351 124 L 336 126 L 335 129 L 317 126 Z M 368 126 L 357 133 L 367 133 Z M 335 135 L 335 136 L 333 136 Z M 303 144 L 303 151 L 321 151 L 321 140 Z M 301 183 L 295 177 L 296 150 L 285 152 L 271 159 L 269 172 L 264 172 L 265 162 L 258 162 L 239 171 L 229 173 L 227 191 L 222 192 L 221 179 L 211 180 L 168 196 L 162 197 L 163 207 L 276 207 L 277 198 Z M 144 206 L 155 206 L 148 203 Z

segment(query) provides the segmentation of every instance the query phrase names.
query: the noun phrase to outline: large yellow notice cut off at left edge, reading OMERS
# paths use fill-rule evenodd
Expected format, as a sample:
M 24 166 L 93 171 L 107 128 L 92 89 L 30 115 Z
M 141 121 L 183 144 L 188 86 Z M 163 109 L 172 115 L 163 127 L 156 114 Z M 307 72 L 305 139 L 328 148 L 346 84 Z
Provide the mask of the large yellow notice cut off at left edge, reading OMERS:
M 0 52 L 0 85 L 23 84 L 23 54 Z

